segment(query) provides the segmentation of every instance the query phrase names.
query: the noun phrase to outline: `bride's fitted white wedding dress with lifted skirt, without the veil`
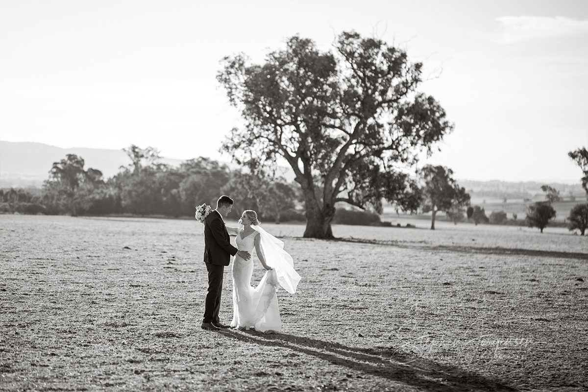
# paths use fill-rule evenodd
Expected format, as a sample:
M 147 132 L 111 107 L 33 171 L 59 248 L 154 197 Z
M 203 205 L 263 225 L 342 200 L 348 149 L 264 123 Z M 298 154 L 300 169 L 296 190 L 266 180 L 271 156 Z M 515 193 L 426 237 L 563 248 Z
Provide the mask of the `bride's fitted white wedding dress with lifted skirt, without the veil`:
M 253 232 L 241 238 L 242 229 L 237 230 L 237 249 L 246 250 L 253 255 L 255 234 Z M 265 253 L 265 252 L 264 252 Z M 279 332 L 282 320 L 278 309 L 278 276 L 275 270 L 268 270 L 257 287 L 251 286 L 253 259 L 243 260 L 239 256 L 233 259 L 233 328 L 255 327 L 262 332 Z

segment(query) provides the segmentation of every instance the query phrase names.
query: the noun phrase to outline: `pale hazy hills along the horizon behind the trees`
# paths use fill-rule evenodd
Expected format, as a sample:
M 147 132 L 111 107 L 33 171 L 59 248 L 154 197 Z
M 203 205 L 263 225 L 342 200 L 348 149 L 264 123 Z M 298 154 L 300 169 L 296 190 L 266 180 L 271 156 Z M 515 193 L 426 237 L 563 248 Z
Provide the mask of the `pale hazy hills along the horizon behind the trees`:
M 81 156 L 85 167 L 101 170 L 105 178 L 119 172 L 121 166 L 131 163 L 123 150 L 94 148 L 59 148 L 43 143 L 4 142 L 0 140 L 0 187 L 41 187 L 49 177 L 54 162 L 64 159 L 67 154 Z M 163 163 L 179 166 L 183 160 L 163 158 Z M 226 162 L 224 162 L 226 163 Z M 285 172 L 286 179 L 293 180 L 293 173 Z M 457 180 L 472 197 L 509 199 L 529 197 L 542 193 L 542 185 L 550 185 L 562 196 L 584 195 L 580 179 L 575 184 L 558 182 L 505 182 Z

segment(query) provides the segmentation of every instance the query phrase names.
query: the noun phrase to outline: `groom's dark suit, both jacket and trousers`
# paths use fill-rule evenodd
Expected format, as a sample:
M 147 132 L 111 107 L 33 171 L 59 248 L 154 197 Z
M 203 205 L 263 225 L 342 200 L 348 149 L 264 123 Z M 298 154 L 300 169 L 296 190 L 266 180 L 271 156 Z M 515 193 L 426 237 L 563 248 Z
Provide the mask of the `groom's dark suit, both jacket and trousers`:
M 208 293 L 203 323 L 218 323 L 222 278 L 230 256 L 235 256 L 237 248 L 230 244 L 225 222 L 216 211 L 209 213 L 204 220 L 204 262 L 208 270 Z

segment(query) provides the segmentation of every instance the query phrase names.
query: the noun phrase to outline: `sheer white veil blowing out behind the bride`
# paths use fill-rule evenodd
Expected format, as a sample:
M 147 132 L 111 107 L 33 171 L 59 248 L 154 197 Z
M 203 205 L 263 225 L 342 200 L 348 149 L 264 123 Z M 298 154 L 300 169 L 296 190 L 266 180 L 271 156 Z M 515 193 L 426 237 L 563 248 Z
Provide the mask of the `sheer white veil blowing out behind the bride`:
M 300 282 L 300 275 L 294 270 L 292 256 L 284 250 L 284 243 L 272 236 L 261 226 L 251 226 L 260 234 L 260 243 L 265 255 L 266 264 L 272 267 L 278 275 L 278 282 L 288 293 L 296 293 L 296 286 Z

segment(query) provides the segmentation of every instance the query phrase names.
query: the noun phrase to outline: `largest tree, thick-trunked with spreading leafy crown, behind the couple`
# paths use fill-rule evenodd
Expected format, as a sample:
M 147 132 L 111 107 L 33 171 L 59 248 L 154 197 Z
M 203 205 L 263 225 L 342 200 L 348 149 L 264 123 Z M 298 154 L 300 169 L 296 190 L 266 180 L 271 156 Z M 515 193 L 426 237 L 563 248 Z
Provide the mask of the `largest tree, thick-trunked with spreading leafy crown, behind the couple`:
M 341 33 L 328 52 L 293 36 L 261 64 L 245 55 L 222 63 L 217 79 L 244 120 L 223 149 L 258 169 L 288 162 L 305 199 L 305 237 L 333 237 L 338 202 L 416 209 L 412 167 L 453 128 L 416 90 L 422 63 L 356 32 Z

